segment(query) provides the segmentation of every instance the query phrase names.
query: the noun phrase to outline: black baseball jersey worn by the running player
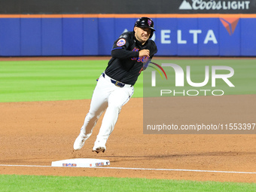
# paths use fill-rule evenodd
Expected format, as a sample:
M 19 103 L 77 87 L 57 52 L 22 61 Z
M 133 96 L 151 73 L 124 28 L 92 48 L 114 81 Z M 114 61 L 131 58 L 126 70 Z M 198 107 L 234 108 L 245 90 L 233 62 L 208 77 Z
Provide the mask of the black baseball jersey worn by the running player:
M 150 56 L 139 57 L 139 50 L 149 50 Z M 124 32 L 114 41 L 112 58 L 108 62 L 105 74 L 123 84 L 134 85 L 143 65 L 157 53 L 157 45 L 149 39 L 145 44 L 136 40 L 134 32 Z

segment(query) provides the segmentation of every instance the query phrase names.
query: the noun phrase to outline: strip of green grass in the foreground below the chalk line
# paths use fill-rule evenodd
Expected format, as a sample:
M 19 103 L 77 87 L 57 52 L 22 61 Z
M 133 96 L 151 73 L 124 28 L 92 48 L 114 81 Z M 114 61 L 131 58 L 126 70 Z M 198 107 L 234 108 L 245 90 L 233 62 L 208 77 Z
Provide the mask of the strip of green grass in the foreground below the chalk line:
M 255 191 L 256 184 L 147 178 L 0 175 L 0 191 Z

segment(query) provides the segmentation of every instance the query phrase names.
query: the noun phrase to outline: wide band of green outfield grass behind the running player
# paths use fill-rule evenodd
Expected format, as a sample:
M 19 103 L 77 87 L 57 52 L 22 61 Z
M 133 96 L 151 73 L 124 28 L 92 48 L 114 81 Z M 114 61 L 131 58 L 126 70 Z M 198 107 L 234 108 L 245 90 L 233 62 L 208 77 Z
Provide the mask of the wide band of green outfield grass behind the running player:
M 154 59 L 154 62 L 175 63 L 184 70 L 184 87 L 175 87 L 175 74 L 172 68 L 166 69 L 168 81 L 157 75 L 157 88 L 169 90 L 224 90 L 227 94 L 255 94 L 255 59 Z M 56 101 L 90 99 L 96 86 L 96 79 L 105 70 L 108 60 L 60 60 L 60 61 L 5 61 L 0 62 L 0 102 Z M 204 87 L 190 87 L 186 81 L 186 66 L 191 69 L 191 81 L 202 82 L 205 66 L 230 66 L 235 75 L 230 81 L 235 87 L 228 87 L 217 79 L 212 87 L 211 73 L 209 83 Z M 135 85 L 133 97 L 143 96 L 144 87 L 151 88 L 151 68 L 148 68 Z M 159 91 L 149 90 L 149 93 Z M 202 92 L 203 93 L 203 92 Z M 146 93 L 145 95 L 148 95 Z M 154 96 L 154 95 L 153 95 Z

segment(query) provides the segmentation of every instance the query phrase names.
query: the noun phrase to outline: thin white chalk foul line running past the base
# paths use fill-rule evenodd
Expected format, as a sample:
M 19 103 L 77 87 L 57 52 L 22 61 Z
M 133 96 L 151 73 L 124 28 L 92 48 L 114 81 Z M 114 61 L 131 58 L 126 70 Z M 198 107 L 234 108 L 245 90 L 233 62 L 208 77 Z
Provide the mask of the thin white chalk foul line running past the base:
M 55 167 L 55 168 L 59 168 L 59 166 L 33 166 L 33 165 L 1 165 L 0 164 L 0 166 Z M 67 168 L 67 167 L 65 167 L 65 168 Z M 78 167 L 75 167 L 75 168 L 78 168 Z M 215 173 L 256 174 L 256 172 L 229 172 L 229 171 L 199 170 L 199 169 L 151 169 L 151 168 L 109 167 L 109 166 L 83 167 L 83 168 L 90 168 L 90 169 L 92 169 L 92 168 L 96 168 L 96 169 L 127 169 L 127 170 L 171 171 L 171 172 L 175 171 L 175 172 L 215 172 Z

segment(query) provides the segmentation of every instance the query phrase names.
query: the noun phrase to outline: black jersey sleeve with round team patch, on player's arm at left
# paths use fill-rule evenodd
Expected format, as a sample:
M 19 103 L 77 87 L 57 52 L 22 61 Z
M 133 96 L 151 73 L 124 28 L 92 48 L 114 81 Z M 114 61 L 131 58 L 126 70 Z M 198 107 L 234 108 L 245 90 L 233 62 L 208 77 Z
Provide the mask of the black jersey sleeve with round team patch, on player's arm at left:
M 130 44 L 133 43 L 133 37 L 128 33 L 123 33 L 114 41 L 114 45 L 111 50 L 111 56 L 117 59 L 129 59 L 133 57 L 139 57 L 139 52 L 128 50 Z

